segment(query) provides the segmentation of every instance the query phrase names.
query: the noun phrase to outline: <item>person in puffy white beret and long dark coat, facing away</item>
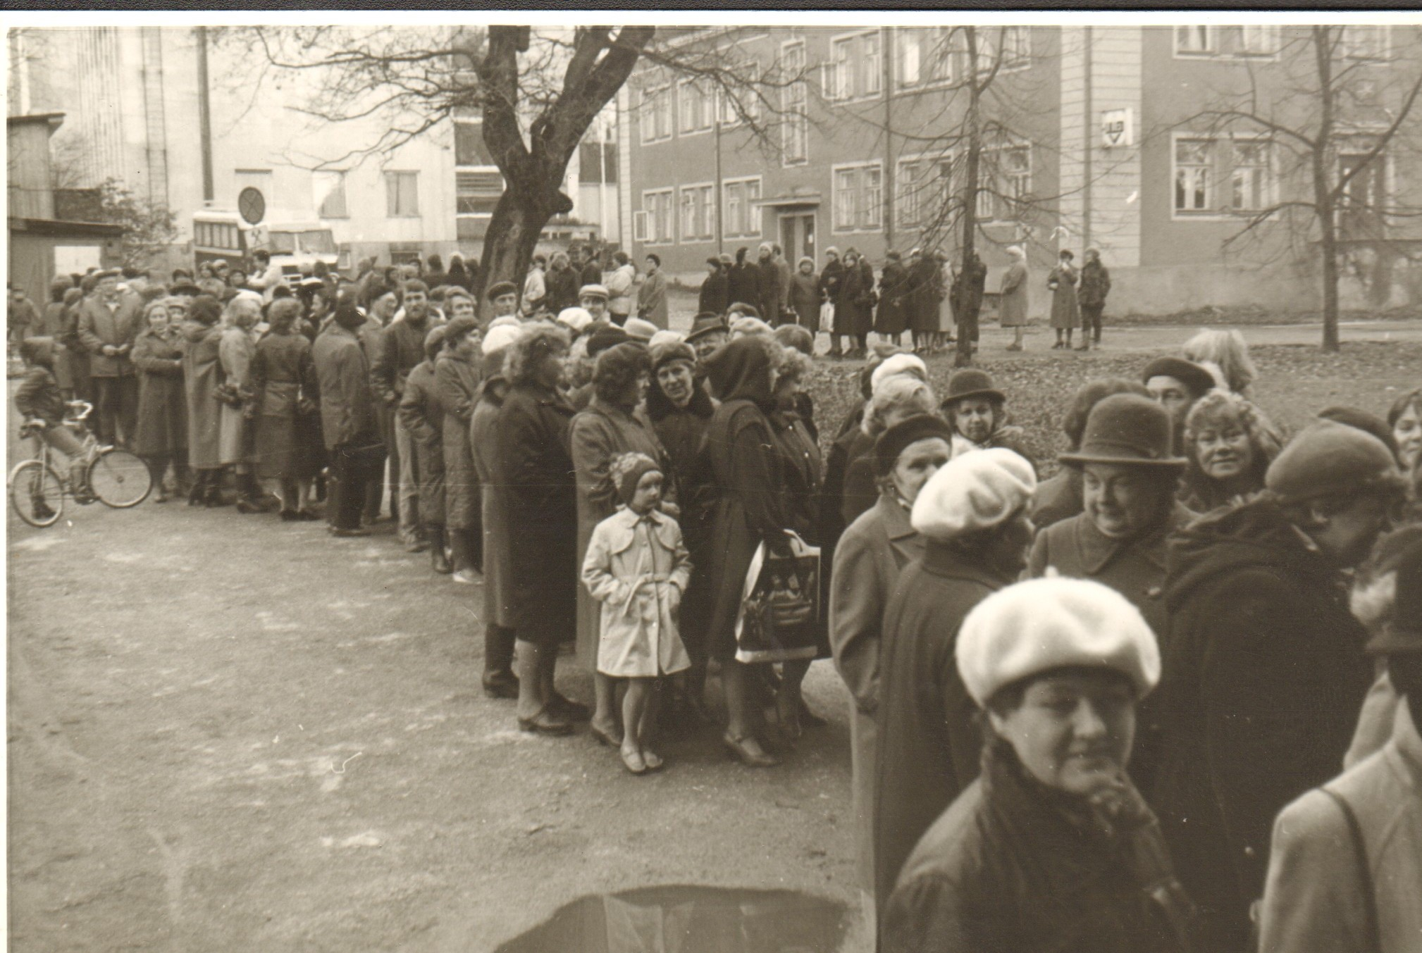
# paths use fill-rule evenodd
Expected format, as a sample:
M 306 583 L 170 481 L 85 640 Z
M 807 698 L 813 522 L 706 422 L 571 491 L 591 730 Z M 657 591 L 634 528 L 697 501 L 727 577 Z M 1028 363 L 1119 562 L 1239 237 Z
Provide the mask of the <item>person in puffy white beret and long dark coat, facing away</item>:
M 884 610 L 879 647 L 875 905 L 880 912 L 923 832 L 978 774 L 975 706 L 954 660 L 971 609 L 1010 585 L 1031 539 L 1032 465 L 1010 449 L 966 454 L 919 492 L 926 541 Z

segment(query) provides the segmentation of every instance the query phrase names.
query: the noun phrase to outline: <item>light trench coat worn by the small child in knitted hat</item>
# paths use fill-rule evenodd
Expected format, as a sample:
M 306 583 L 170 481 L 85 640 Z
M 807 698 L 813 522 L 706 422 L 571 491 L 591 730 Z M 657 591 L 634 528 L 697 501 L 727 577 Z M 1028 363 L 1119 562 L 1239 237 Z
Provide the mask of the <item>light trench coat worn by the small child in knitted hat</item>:
M 597 523 L 583 559 L 583 585 L 602 603 L 597 671 L 656 678 L 691 667 L 677 634 L 677 609 L 691 556 L 677 521 L 627 508 Z

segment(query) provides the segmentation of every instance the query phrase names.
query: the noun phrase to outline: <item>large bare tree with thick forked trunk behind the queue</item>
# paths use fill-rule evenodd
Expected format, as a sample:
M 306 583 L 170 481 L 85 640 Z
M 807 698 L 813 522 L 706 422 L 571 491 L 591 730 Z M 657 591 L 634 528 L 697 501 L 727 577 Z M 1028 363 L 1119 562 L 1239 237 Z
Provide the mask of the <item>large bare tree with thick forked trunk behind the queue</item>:
M 485 233 L 476 293 L 493 282 L 520 282 L 543 226 L 573 209 L 562 191 L 569 161 L 638 63 L 714 87 L 764 142 L 775 124 L 766 117 L 775 115 L 776 90 L 796 78 L 747 77 L 707 31 L 646 26 L 246 27 L 225 30 L 218 41 L 256 50 L 263 74 L 317 71 L 317 92 L 300 107 L 313 117 L 384 118 L 380 135 L 353 147 L 353 155 L 390 152 L 456 112 L 482 115 L 505 191 Z

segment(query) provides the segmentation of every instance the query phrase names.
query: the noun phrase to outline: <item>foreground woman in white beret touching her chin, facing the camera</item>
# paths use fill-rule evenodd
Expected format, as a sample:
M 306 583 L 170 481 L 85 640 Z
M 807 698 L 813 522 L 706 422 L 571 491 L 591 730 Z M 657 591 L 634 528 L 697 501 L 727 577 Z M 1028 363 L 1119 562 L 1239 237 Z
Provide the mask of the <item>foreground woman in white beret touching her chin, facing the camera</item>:
M 1126 775 L 1160 677 L 1140 612 L 1096 582 L 1032 579 L 978 603 L 956 656 L 983 774 L 904 863 L 880 950 L 1192 949 L 1190 899 Z

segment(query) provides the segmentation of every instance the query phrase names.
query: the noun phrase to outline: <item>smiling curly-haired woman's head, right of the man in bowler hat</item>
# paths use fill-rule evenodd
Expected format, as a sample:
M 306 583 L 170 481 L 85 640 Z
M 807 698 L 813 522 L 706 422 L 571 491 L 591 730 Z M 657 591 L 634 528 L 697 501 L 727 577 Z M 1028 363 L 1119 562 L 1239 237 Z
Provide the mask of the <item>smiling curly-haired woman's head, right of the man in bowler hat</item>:
M 1264 488 L 1264 471 L 1283 441 L 1264 412 L 1239 394 L 1213 390 L 1185 418 L 1189 465 L 1180 502 L 1203 513 Z

